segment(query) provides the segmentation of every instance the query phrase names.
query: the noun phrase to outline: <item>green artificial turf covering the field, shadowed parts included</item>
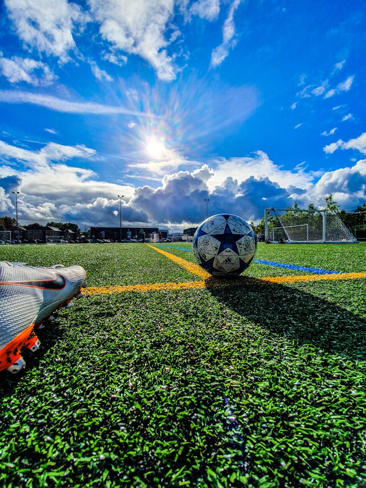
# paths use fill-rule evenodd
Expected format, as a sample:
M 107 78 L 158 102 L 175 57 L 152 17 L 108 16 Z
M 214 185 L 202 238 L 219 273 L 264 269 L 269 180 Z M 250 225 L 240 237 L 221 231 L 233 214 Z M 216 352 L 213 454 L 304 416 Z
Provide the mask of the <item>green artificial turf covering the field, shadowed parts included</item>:
M 195 262 L 181 247 L 161 249 Z M 256 256 L 338 272 L 365 258 L 365 244 Z M 138 244 L 4 246 L 0 260 L 80 264 L 89 286 L 201 280 Z M 58 311 L 24 371 L 0 374 L 2 485 L 366 486 L 366 279 L 256 279 L 301 274 L 253 263 L 240 286 Z

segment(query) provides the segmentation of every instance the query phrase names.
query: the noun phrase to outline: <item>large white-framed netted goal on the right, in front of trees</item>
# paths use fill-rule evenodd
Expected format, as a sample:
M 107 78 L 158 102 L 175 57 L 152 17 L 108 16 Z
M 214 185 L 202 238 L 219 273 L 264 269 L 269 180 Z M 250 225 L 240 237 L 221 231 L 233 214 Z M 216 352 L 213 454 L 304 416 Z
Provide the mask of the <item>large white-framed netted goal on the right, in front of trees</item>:
M 335 210 L 266 208 L 264 235 L 266 242 L 357 242 Z

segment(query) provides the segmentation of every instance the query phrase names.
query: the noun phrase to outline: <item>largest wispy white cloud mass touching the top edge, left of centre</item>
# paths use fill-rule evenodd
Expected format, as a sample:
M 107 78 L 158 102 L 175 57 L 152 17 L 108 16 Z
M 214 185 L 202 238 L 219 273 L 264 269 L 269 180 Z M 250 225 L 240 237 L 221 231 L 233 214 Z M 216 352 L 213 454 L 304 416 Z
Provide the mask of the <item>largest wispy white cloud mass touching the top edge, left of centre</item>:
M 174 0 L 88 0 L 87 4 L 89 9 L 82 10 L 67 0 L 58 0 L 57 7 L 54 0 L 6 0 L 16 33 L 29 51 L 54 56 L 62 64 L 75 56 L 84 59 L 87 56 L 79 52 L 75 39 L 88 23 L 95 23 L 106 42 L 102 59 L 123 66 L 127 55 L 135 54 L 147 60 L 160 79 L 176 78 L 177 52 L 168 53 L 180 36 L 171 23 Z M 104 70 L 90 65 L 98 79 L 110 81 Z

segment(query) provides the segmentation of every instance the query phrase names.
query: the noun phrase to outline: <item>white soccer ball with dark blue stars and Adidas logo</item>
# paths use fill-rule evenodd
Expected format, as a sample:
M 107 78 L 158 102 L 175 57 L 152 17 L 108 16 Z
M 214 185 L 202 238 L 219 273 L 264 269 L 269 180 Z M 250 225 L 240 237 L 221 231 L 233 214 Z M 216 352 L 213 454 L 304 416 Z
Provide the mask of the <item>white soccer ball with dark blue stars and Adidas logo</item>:
M 214 277 L 236 277 L 257 251 L 252 227 L 237 215 L 218 214 L 197 228 L 192 241 L 197 264 Z

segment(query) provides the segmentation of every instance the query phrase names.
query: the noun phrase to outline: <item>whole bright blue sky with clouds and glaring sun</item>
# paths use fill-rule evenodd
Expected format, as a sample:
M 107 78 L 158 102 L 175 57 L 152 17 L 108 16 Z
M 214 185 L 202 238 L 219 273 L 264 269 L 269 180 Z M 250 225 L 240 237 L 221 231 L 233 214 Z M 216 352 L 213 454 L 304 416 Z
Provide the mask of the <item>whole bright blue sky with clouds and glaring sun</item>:
M 5 0 L 0 27 L 0 216 L 366 201 L 364 0 Z

